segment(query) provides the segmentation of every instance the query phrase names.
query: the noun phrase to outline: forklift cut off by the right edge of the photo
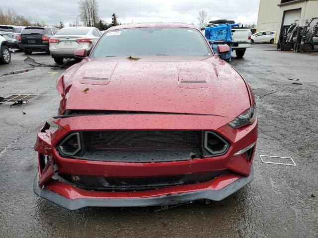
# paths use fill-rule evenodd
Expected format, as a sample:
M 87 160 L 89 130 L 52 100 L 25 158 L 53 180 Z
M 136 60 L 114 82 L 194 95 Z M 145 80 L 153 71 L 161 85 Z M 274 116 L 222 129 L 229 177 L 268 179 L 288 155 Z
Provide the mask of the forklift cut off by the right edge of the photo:
M 310 30 L 310 25 L 314 20 L 318 20 L 318 17 L 313 17 L 307 22 L 306 26 L 303 27 L 298 51 L 318 51 L 318 21 L 313 26 L 313 29 Z

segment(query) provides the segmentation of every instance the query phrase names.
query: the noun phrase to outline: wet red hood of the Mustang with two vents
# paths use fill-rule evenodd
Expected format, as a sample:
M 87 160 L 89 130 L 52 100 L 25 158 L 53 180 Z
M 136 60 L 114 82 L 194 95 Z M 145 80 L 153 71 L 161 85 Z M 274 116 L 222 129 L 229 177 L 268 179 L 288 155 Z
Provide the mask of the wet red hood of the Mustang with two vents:
M 66 110 L 234 118 L 250 107 L 245 81 L 218 57 L 82 60 L 63 74 Z

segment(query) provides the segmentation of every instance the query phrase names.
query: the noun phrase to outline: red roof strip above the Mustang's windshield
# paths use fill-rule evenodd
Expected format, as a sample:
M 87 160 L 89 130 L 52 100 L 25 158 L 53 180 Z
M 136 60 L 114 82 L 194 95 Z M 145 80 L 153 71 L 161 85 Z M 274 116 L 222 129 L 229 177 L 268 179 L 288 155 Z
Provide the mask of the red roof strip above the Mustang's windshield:
M 149 23 L 135 23 L 135 24 L 124 24 L 118 26 L 112 26 L 108 30 L 119 30 L 127 28 L 141 28 L 141 27 L 184 27 L 198 29 L 196 26 L 180 22 L 149 22 Z M 108 31 L 107 30 L 107 31 Z

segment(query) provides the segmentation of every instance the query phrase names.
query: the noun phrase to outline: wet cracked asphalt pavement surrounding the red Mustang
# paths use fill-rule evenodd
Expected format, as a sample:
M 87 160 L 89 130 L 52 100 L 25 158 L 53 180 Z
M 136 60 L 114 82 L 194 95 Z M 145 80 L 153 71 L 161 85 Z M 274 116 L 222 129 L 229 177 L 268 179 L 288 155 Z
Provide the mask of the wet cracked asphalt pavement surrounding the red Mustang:
M 12 56 L 14 69 L 27 66 L 19 54 Z M 48 55 L 34 57 L 54 62 Z M 243 59 L 233 58 L 257 102 L 254 180 L 221 202 L 158 213 L 153 208 L 71 212 L 34 195 L 36 131 L 57 113 L 55 82 L 62 70 L 36 67 L 0 77 L 2 97 L 38 95 L 28 104 L 0 105 L 0 236 L 318 237 L 317 60 L 315 54 L 277 52 L 272 45 L 253 45 Z M 292 157 L 297 166 L 264 164 L 259 155 Z

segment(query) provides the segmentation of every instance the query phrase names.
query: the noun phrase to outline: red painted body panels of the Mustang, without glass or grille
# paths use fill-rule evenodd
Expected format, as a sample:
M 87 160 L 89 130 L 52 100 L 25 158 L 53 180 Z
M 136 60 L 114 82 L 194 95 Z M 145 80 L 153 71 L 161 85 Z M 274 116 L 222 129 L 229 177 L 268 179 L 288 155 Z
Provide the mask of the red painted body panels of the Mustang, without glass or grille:
M 185 24 L 144 24 L 137 27 L 195 27 Z M 134 28 L 134 25 L 113 29 Z M 86 58 L 68 68 L 58 79 L 59 115 L 67 110 L 153 112 L 153 114 L 89 115 L 54 120 L 56 132 L 38 132 L 34 146 L 47 155 L 64 175 L 154 177 L 229 170 L 207 182 L 137 192 L 87 191 L 50 179 L 53 166 L 44 171 L 39 162 L 39 185 L 69 199 L 153 197 L 198 190 L 220 190 L 248 176 L 251 159 L 239 150 L 256 142 L 257 119 L 252 125 L 233 129 L 229 122 L 254 105 L 242 76 L 216 56 L 144 56 L 137 61 L 123 57 Z M 89 80 L 100 78 L 101 80 Z M 107 80 L 105 80 L 107 79 Z M 186 85 L 185 81 L 202 81 Z M 205 82 L 204 82 L 205 81 Z M 170 114 L 160 114 L 170 113 Z M 56 149 L 72 131 L 87 130 L 207 130 L 221 134 L 230 144 L 226 154 L 211 158 L 162 163 L 105 162 L 63 158 Z M 255 147 L 254 147 L 255 148 Z M 40 158 L 40 157 L 39 157 Z M 40 159 L 39 159 L 40 161 Z M 47 172 L 48 171 L 48 172 Z

